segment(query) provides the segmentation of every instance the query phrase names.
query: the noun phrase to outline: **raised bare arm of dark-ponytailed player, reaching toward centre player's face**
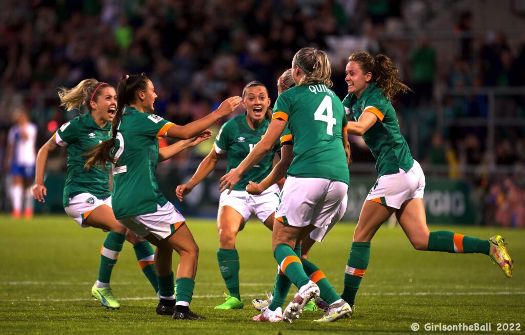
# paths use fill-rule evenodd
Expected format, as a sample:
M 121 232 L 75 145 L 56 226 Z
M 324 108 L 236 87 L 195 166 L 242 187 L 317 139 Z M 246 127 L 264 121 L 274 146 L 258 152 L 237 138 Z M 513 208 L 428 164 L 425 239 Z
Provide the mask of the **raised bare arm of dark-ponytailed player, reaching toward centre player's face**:
M 188 123 L 184 126 L 173 125 L 167 130 L 166 135 L 167 137 L 179 139 L 190 139 L 194 136 L 197 136 L 198 134 L 202 133 L 204 129 L 217 122 L 221 117 L 231 114 L 237 108 L 240 102 L 240 96 L 232 96 L 231 98 L 223 101 L 216 111 L 209 113 L 197 121 L 193 121 L 192 123 Z

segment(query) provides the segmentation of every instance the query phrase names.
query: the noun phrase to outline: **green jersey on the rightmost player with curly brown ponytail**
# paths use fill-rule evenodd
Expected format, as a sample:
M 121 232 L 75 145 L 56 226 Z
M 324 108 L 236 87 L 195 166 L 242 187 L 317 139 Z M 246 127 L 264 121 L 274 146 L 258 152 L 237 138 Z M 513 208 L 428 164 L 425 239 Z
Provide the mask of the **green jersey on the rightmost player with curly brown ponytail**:
M 414 158 L 401 135 L 394 107 L 381 88 L 371 83 L 360 99 L 355 94 L 346 95 L 343 105 L 351 121 L 358 121 L 364 111 L 377 116 L 379 122 L 364 133 L 363 139 L 376 159 L 375 169 L 380 177 L 397 174 L 400 168 L 404 171 L 412 168 Z

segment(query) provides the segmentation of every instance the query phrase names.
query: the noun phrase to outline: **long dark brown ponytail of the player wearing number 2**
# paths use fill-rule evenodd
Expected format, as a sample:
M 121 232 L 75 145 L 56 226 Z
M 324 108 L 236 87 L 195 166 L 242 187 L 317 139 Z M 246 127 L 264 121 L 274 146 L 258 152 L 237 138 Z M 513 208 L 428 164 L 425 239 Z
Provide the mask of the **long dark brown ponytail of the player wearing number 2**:
M 117 111 L 111 124 L 111 138 L 96 145 L 89 150 L 83 156 L 89 157 L 88 161 L 84 165 L 85 169 L 89 169 L 92 166 L 101 167 L 110 162 L 117 164 L 117 159 L 111 157 L 111 150 L 115 146 L 117 138 L 117 129 L 122 121 L 122 111 L 124 107 L 135 102 L 137 99 L 137 92 L 145 91 L 148 88 L 148 77 L 143 73 L 141 74 L 124 74 L 117 87 Z

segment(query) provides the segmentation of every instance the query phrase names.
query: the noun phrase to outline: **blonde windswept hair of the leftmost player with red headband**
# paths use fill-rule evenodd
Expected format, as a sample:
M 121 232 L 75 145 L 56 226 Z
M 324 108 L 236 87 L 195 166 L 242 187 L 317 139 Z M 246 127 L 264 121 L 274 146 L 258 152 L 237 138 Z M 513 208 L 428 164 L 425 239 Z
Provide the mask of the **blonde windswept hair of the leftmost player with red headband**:
M 58 96 L 60 98 L 60 106 L 66 107 L 66 111 L 70 112 L 74 109 L 80 109 L 85 105 L 91 111 L 91 100 L 97 100 L 101 93 L 99 88 L 103 85 L 111 87 L 111 85 L 99 82 L 96 79 L 84 79 L 78 83 L 74 88 L 67 89 L 65 87 L 58 88 Z M 93 95 L 95 93 L 95 95 Z

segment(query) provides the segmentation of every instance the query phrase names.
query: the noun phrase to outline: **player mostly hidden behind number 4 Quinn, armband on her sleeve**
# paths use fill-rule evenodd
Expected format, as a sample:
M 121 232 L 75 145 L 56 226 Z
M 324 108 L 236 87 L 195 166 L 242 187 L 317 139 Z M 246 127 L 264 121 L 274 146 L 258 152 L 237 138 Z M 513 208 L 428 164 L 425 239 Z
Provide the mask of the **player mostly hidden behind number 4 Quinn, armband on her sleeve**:
M 282 92 L 290 89 L 291 87 L 295 86 L 295 81 L 293 81 L 293 77 L 291 74 L 291 69 L 286 70 L 277 80 L 277 91 L 279 94 Z M 343 138 L 343 145 L 348 150 L 350 149 L 350 146 L 348 145 L 348 138 Z M 249 185 L 246 187 L 246 191 L 250 194 L 260 194 L 262 191 L 264 191 L 268 186 L 275 183 L 277 180 L 280 180 L 281 178 L 284 178 L 286 176 L 286 171 L 290 167 L 290 164 L 293 159 L 292 154 L 292 146 L 293 146 L 293 140 L 292 135 L 290 132 L 290 129 L 288 126 L 285 128 L 285 131 L 282 133 L 281 136 L 281 159 L 279 160 L 279 163 L 276 164 L 274 169 L 270 172 L 268 177 L 266 177 L 264 180 L 262 180 L 260 183 L 250 181 Z M 347 160 L 350 157 L 350 151 L 346 153 Z M 304 272 L 309 277 L 312 277 L 314 274 L 314 271 L 317 270 L 316 266 L 311 266 L 311 263 L 308 261 L 308 253 L 310 252 L 311 247 L 313 244 L 317 242 L 322 242 L 324 240 L 324 237 L 328 234 L 328 232 L 333 228 L 333 226 L 341 220 L 341 218 L 344 215 L 344 212 L 346 211 L 346 203 L 348 202 L 348 196 L 344 196 L 343 200 L 339 204 L 339 208 L 337 209 L 337 213 L 332 218 L 332 221 L 330 224 L 323 226 L 322 228 L 316 228 L 314 229 L 310 235 L 304 237 L 303 241 L 300 241 L 300 243 L 296 243 L 296 247 L 294 248 L 294 251 L 297 253 L 297 250 L 300 252 L 298 253 L 298 256 L 301 257 L 301 262 L 303 264 Z M 281 310 L 282 305 L 284 304 L 284 301 L 286 299 L 286 296 L 288 294 L 288 291 L 290 290 L 291 282 L 284 274 L 279 272 L 279 269 L 277 271 L 277 275 L 275 278 L 275 285 L 274 290 L 271 294 L 267 293 L 268 298 L 265 300 L 262 299 L 254 299 L 251 303 L 255 307 L 255 309 L 262 311 L 261 314 L 255 316 L 253 318 L 254 321 L 270 321 L 270 322 L 279 322 L 282 320 L 282 315 L 277 313 L 265 313 L 265 309 L 269 307 L 270 310 L 276 311 Z M 318 301 L 319 304 L 324 305 L 324 301 Z M 324 302 L 324 304 L 323 304 Z M 312 306 L 313 305 L 313 306 Z M 313 304 L 313 301 L 309 301 L 306 307 L 304 307 L 304 310 L 316 310 L 317 306 Z M 314 308 L 311 308 L 314 307 Z M 323 306 L 325 307 L 325 306 Z M 323 318 L 324 320 L 328 320 L 327 318 Z

